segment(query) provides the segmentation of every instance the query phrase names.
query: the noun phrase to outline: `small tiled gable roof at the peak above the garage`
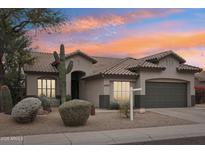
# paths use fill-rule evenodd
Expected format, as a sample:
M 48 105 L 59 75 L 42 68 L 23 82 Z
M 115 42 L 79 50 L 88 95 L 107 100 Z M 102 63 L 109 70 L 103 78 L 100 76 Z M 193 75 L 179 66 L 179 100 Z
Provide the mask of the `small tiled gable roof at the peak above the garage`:
M 160 53 L 157 53 L 157 54 L 154 54 L 151 56 L 143 57 L 142 59 L 146 60 L 146 61 L 156 62 L 156 61 L 159 61 L 159 60 L 161 60 L 164 57 L 169 56 L 169 55 L 173 55 L 174 57 L 176 57 L 180 61 L 180 63 L 186 62 L 185 59 L 183 59 L 181 56 L 177 55 L 175 52 L 173 52 L 171 50 L 165 51 L 165 52 L 160 52 Z

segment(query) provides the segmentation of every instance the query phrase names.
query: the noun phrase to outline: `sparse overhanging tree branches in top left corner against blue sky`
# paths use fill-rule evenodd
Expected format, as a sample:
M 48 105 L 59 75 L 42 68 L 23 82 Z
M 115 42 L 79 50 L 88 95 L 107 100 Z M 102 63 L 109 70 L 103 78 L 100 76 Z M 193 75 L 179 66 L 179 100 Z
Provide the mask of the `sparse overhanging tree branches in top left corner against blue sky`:
M 0 81 L 4 80 L 3 56 L 13 52 L 11 42 L 26 36 L 33 28 L 53 31 L 65 21 L 61 12 L 54 9 L 0 9 Z M 5 61 L 7 63 L 7 61 Z

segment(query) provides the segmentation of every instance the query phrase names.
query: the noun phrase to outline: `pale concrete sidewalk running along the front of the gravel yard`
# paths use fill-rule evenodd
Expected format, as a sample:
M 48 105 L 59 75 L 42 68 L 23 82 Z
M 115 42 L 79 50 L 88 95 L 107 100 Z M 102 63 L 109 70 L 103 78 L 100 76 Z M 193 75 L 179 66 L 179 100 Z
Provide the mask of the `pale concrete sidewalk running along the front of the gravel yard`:
M 121 129 L 78 133 L 42 134 L 18 137 L 0 137 L 2 144 L 125 144 L 163 139 L 205 136 L 205 124 Z

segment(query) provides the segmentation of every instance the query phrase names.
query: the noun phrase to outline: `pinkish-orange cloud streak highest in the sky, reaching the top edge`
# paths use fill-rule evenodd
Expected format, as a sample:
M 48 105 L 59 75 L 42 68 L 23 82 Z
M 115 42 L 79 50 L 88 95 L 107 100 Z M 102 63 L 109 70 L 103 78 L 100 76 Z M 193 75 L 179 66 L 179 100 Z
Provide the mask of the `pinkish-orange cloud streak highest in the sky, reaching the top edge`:
M 61 32 L 85 32 L 106 26 L 118 26 L 149 18 L 163 17 L 180 11 L 182 9 L 140 9 L 123 15 L 85 16 L 65 24 L 62 26 Z

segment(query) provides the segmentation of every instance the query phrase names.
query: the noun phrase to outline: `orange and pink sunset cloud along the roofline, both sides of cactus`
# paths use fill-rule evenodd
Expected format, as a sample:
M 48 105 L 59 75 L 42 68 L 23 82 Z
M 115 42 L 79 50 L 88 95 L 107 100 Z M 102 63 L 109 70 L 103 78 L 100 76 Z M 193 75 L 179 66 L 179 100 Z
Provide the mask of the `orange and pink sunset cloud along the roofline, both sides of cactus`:
M 41 51 L 59 50 L 59 44 L 49 45 L 42 41 L 36 42 Z M 143 57 L 164 50 L 174 50 L 188 62 L 205 67 L 204 56 L 200 47 L 205 47 L 205 32 L 158 32 L 148 35 L 127 35 L 108 43 L 80 42 L 65 43 L 66 51 L 80 49 L 96 56 L 132 56 Z M 193 59 L 195 58 L 195 59 Z

